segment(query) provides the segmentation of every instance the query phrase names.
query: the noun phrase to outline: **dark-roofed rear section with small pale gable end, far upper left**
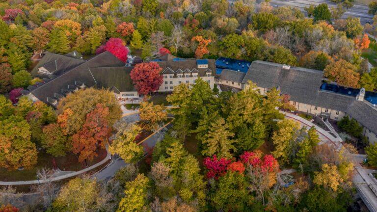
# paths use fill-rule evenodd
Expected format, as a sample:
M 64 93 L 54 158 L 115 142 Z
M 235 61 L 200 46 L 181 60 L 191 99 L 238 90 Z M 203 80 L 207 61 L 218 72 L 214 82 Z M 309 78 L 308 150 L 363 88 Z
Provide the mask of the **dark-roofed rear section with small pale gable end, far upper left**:
M 56 61 L 56 67 L 55 67 L 55 61 Z M 43 66 L 49 71 L 56 70 L 54 72 L 54 76 L 59 76 L 79 66 L 80 64 L 84 62 L 86 62 L 86 60 L 75 59 L 75 58 L 68 57 L 61 54 L 46 53 L 42 57 L 42 59 L 38 62 L 38 64 L 31 70 L 30 74 L 33 77 L 46 78 L 48 75 L 38 73 L 38 68 Z M 49 77 L 54 78 L 54 76 L 49 76 Z

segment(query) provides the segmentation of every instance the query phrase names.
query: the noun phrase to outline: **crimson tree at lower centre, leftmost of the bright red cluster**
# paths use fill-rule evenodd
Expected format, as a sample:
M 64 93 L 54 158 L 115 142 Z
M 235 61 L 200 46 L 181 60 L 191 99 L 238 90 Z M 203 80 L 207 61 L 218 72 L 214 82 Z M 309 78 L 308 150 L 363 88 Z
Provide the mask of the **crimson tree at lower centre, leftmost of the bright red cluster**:
M 226 158 L 217 159 L 216 155 L 212 156 L 212 159 L 210 157 L 205 158 L 203 164 L 204 167 L 208 169 L 206 174 L 207 178 L 218 179 L 225 175 L 230 162 L 230 159 Z

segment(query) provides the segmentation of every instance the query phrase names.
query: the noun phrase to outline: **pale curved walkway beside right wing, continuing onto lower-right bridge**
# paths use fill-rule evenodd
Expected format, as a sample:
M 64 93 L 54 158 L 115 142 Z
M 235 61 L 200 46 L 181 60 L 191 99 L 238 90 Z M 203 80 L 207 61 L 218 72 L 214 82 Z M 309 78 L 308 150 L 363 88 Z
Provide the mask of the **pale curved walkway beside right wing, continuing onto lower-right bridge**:
M 323 143 L 327 143 L 330 146 L 334 147 L 336 150 L 342 148 L 342 139 L 340 137 L 335 137 L 329 132 L 323 130 L 312 122 L 301 118 L 295 114 L 282 112 L 289 119 L 293 119 L 301 124 L 301 126 L 312 127 L 314 126 L 320 136 L 320 139 Z M 365 155 L 350 154 L 348 150 L 345 150 L 350 159 L 354 164 L 355 173 L 352 178 L 353 184 L 356 186 L 356 189 L 368 207 L 369 211 L 377 212 L 377 185 L 373 177 L 370 176 L 370 173 L 374 170 L 366 169 L 360 165 L 360 163 L 366 158 Z

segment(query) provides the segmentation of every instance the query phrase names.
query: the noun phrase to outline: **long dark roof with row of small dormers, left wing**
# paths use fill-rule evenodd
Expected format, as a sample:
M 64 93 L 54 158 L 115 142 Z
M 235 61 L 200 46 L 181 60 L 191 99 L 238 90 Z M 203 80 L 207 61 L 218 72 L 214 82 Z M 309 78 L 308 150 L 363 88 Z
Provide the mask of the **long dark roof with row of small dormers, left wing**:
M 96 80 L 93 78 L 89 68 L 96 67 L 111 67 L 111 66 L 124 66 L 125 64 L 109 52 L 104 52 L 96 55 L 85 63 L 65 72 L 59 77 L 37 87 L 31 93 L 41 100 L 47 102 L 47 97 L 54 97 L 54 93 L 61 94 L 62 89 L 67 89 L 69 84 L 75 84 L 75 81 L 80 81 L 86 86 L 94 86 Z

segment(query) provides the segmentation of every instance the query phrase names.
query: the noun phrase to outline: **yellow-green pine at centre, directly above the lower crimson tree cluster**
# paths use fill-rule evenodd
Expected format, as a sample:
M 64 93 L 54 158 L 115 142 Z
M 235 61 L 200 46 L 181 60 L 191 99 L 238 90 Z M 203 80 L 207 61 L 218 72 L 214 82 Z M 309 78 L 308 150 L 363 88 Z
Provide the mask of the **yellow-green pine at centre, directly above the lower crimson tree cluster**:
M 234 140 L 230 138 L 234 133 L 229 132 L 228 125 L 223 118 L 215 120 L 204 136 L 202 154 L 206 156 L 217 155 L 219 158 L 231 158 L 231 151 L 235 151 Z

